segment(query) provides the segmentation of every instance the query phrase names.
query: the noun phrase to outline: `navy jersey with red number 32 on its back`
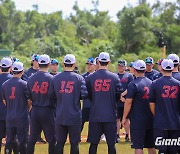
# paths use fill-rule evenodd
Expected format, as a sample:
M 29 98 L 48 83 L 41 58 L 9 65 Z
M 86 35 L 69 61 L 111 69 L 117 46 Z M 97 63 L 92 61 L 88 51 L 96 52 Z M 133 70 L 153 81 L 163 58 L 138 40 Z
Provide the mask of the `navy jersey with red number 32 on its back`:
M 150 102 L 155 103 L 154 128 L 180 129 L 180 82 L 162 76 L 152 83 Z

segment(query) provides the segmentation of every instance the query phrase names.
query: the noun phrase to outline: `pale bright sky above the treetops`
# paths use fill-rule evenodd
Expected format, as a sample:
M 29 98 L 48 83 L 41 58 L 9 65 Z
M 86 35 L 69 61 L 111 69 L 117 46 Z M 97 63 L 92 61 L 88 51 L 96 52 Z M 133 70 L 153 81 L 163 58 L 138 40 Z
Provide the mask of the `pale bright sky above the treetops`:
M 68 17 L 72 12 L 72 6 L 75 1 L 81 9 L 90 10 L 93 8 L 91 3 L 92 0 L 13 0 L 16 4 L 18 10 L 32 10 L 33 4 L 39 5 L 39 12 L 51 13 L 55 11 L 62 11 L 64 17 Z M 156 0 L 147 0 L 149 3 L 153 4 Z M 174 2 L 175 0 L 160 0 L 161 2 Z M 131 4 L 136 6 L 138 0 L 99 0 L 99 10 L 109 11 L 109 15 L 112 19 L 116 18 L 116 14 L 124 6 Z

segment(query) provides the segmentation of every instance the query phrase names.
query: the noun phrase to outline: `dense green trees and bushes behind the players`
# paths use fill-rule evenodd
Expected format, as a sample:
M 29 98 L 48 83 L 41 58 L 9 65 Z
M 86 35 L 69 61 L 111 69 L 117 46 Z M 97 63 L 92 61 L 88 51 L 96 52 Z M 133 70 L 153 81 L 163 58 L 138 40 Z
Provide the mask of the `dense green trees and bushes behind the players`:
M 28 66 L 33 53 L 46 53 L 62 61 L 67 53 L 73 53 L 77 65 L 85 71 L 87 57 L 96 57 L 102 51 L 111 55 L 111 69 L 117 60 L 128 62 L 152 56 L 160 58 L 159 47 L 166 45 L 167 52 L 179 53 L 180 1 L 149 6 L 140 0 L 136 7 L 124 7 L 117 14 L 118 21 L 111 20 L 108 12 L 94 9 L 81 10 L 73 6 L 74 14 L 64 19 L 61 11 L 51 14 L 18 11 L 12 0 L 0 0 L 0 49 L 11 50 Z

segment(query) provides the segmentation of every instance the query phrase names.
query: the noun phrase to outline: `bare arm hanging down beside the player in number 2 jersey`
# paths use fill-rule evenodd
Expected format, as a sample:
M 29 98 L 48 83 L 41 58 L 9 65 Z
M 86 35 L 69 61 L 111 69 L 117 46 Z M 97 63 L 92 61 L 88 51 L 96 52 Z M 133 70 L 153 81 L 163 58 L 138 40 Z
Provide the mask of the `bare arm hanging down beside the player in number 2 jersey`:
M 124 125 L 126 123 L 127 116 L 131 110 L 132 106 L 132 98 L 127 98 L 124 104 L 124 113 L 123 113 L 123 118 L 122 118 L 122 124 Z

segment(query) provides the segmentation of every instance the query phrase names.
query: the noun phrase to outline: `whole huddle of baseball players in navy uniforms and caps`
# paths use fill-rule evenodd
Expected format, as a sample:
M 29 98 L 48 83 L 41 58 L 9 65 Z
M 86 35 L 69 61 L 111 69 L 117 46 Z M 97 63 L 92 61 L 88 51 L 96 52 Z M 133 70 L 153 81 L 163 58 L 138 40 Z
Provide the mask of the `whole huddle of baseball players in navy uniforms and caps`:
M 10 67 L 10 61 L 9 64 L 7 61 L 6 58 L 3 63 L 2 59 L 1 69 Z M 13 78 L 2 85 L 2 100 L 7 106 L 6 153 L 11 153 L 16 135 L 19 141 L 19 152 L 34 153 L 34 145 L 42 130 L 49 144 L 49 153 L 63 153 L 68 134 L 71 154 L 79 153 L 81 123 L 89 120 L 88 142 L 91 143 L 89 153 L 97 152 L 101 135 L 105 134 L 108 153 L 114 154 L 117 137 L 117 103 L 119 104 L 118 118 L 121 123 L 125 126 L 128 123 L 127 119 L 130 119 L 131 141 L 135 153 L 142 153 L 143 148 L 148 148 L 149 153 L 155 153 L 153 134 L 155 137 L 162 136 L 164 139 L 179 137 L 180 82 L 173 78 L 180 76 L 177 71 L 179 64 L 177 55 L 171 54 L 168 59 L 158 61 L 159 77 L 163 77 L 153 82 L 151 80 L 154 76 L 157 78 L 158 73 L 152 69 L 153 59 L 150 57 L 145 62 L 138 60 L 133 63 L 135 79 L 130 73 L 125 72 L 124 68 L 127 64 L 124 60 L 118 62 L 118 74 L 109 72 L 110 56 L 105 52 L 100 53 L 98 57 L 99 68 L 84 74 L 85 79 L 73 72 L 75 63 L 74 55 L 66 55 L 63 62 L 64 72 L 53 77 L 48 73 L 49 56 L 41 55 L 38 57 L 39 71 L 26 83 L 21 80 L 23 64 L 14 62 Z M 87 64 L 94 65 L 93 59 L 88 59 Z M 80 99 L 84 100 L 83 109 L 88 106 L 88 102 L 91 103 L 87 107 L 90 108 L 87 111 L 88 118 L 83 119 L 83 115 L 81 118 Z M 28 104 L 32 108 L 30 136 L 26 149 Z M 54 107 L 56 107 L 56 116 Z M 87 114 L 83 109 L 82 113 Z M 159 153 L 175 154 L 178 150 L 176 146 L 157 148 Z

